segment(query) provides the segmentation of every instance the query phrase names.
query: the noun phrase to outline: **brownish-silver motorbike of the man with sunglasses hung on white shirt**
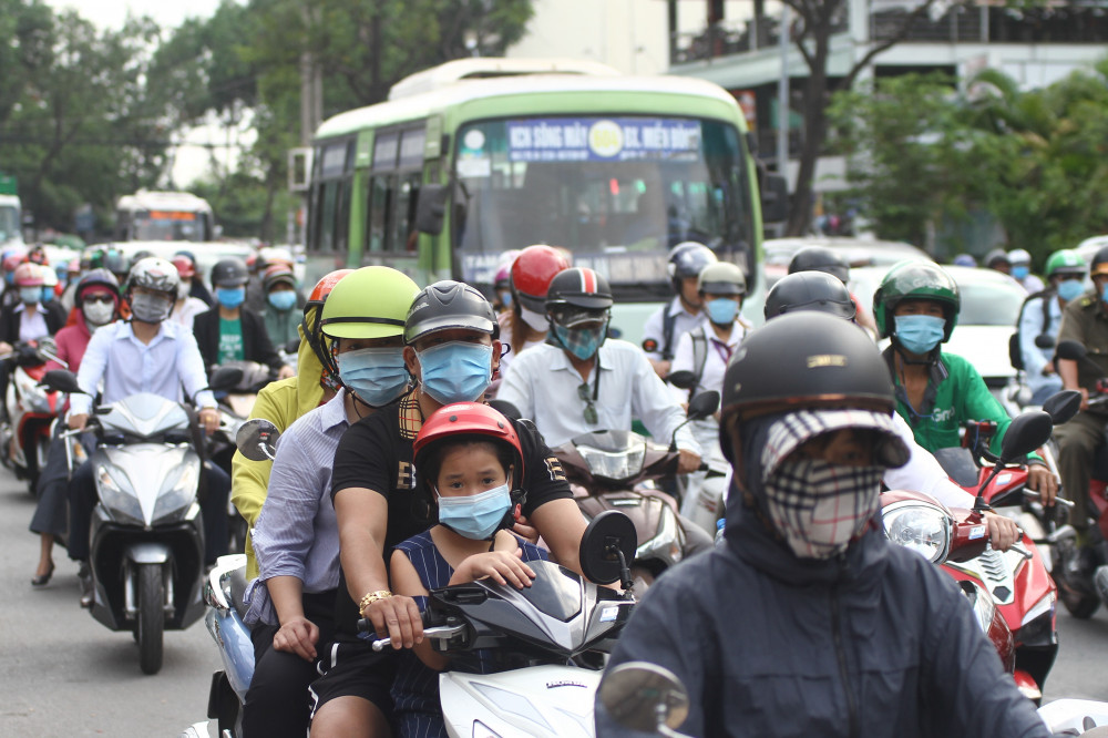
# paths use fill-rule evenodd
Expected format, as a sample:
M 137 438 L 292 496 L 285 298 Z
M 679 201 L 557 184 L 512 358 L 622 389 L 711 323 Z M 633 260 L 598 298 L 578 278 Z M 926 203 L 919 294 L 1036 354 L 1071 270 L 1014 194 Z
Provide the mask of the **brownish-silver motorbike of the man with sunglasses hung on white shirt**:
M 704 392 L 689 403 L 685 422 L 706 418 L 718 407 L 719 393 Z M 673 441 L 664 445 L 634 431 L 596 431 L 560 445 L 554 455 L 586 519 L 618 510 L 634 521 L 642 543 L 630 570 L 640 587 L 649 586 L 683 558 L 711 547 L 711 536 L 681 517 L 671 495 L 647 484 L 676 475 L 678 455 Z

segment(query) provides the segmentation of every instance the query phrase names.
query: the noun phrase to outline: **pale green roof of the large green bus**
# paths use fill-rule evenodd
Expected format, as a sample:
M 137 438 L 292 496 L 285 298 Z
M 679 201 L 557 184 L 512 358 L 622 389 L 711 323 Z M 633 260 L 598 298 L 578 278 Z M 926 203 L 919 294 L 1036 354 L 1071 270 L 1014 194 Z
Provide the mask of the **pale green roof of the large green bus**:
M 688 76 L 589 76 L 585 74 L 522 74 L 479 80 L 460 80 L 438 90 L 339 113 L 319 126 L 316 139 L 357 133 L 392 123 L 427 117 L 449 107 L 490 98 L 581 93 L 609 99 L 611 93 L 636 92 L 657 95 L 710 99 L 737 106 L 735 98 L 719 85 Z M 674 111 L 683 110 L 675 103 Z M 521 107 L 517 114 L 529 111 Z M 607 111 L 617 113 L 618 111 Z

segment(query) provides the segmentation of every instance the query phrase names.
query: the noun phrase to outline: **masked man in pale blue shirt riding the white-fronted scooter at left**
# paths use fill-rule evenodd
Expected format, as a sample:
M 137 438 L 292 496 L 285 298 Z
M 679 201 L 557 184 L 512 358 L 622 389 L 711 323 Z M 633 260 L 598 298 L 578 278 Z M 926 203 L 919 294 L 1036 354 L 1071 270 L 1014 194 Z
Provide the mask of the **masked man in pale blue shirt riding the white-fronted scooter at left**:
M 78 385 L 84 394 L 70 398 L 69 427 L 80 430 L 89 421 L 96 388 L 103 382 L 101 402 L 111 404 L 138 392 L 151 392 L 182 401 L 182 389 L 193 398 L 199 422 L 207 432 L 219 426 L 216 400 L 207 389 L 207 375 L 192 332 L 168 321 L 176 299 L 177 269 L 165 259 L 145 258 L 131 269 L 124 299 L 131 306 L 131 321 L 116 321 L 98 330 L 89 341 Z M 198 449 L 202 452 L 203 450 Z M 227 549 L 227 495 L 230 478 L 222 469 L 205 464 L 207 496 L 202 501 L 206 561 L 214 563 Z M 92 468 L 84 462 L 70 482 L 70 558 L 89 557 L 89 526 L 96 503 Z M 81 567 L 82 590 L 88 586 L 88 567 Z M 82 604 L 91 604 L 91 591 L 82 592 Z

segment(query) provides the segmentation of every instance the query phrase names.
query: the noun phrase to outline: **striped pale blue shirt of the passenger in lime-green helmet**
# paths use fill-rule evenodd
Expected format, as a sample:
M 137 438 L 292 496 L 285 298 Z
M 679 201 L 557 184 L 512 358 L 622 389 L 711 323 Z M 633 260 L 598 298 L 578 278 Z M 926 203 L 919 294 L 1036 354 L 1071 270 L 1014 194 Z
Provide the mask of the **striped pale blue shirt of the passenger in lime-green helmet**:
M 250 532 L 258 578 L 250 582 L 247 623 L 276 625 L 269 591 L 274 576 L 295 576 L 304 592 L 327 592 L 339 583 L 339 527 L 331 504 L 331 464 L 347 421 L 346 391 L 305 413 L 277 441 L 269 492 Z

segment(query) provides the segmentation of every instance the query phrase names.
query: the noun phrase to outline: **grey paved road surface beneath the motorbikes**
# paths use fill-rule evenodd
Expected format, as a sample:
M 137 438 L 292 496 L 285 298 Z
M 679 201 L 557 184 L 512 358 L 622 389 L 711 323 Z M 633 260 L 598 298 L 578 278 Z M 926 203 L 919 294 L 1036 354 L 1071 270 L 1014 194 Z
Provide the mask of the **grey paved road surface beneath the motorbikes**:
M 166 633 L 162 672 L 143 675 L 131 636 L 109 632 L 78 606 L 76 566 L 63 552 L 55 552 L 50 585 L 31 588 L 32 511 L 23 485 L 0 470 L 0 737 L 172 737 L 203 719 L 219 667 L 203 622 Z M 1108 614 L 1075 621 L 1061 612 L 1058 627 L 1061 653 L 1047 699 L 1108 701 Z

